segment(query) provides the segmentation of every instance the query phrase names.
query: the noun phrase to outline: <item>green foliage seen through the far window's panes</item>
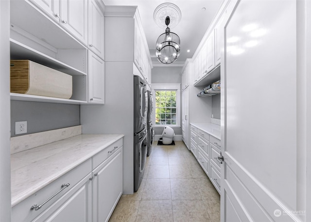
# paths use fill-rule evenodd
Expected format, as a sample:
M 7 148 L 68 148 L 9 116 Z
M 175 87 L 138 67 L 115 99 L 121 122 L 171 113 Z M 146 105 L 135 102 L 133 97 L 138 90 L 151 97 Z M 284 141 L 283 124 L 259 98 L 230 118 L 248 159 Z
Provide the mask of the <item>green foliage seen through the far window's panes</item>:
M 155 91 L 155 125 L 176 125 L 176 91 Z

